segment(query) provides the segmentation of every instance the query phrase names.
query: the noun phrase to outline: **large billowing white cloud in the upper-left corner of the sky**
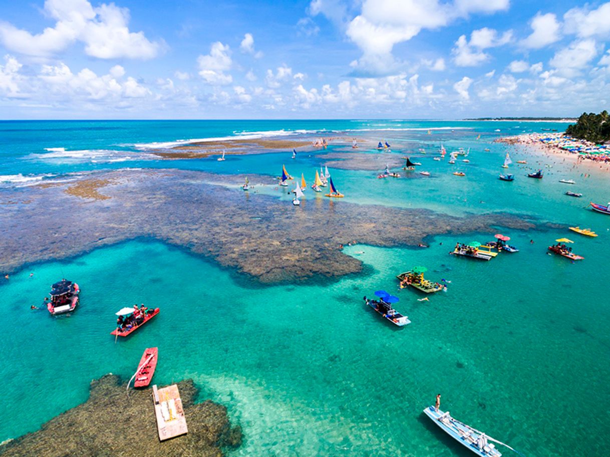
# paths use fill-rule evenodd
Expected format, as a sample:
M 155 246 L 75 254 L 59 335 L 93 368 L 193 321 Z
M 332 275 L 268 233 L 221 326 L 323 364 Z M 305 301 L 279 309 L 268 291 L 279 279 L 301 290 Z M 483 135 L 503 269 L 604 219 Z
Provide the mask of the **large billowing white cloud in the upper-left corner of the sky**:
M 129 10 L 113 3 L 93 8 L 87 0 L 46 0 L 45 13 L 57 22 L 40 34 L 0 23 L 0 41 L 5 48 L 46 57 L 81 41 L 92 57 L 147 59 L 164 47 L 162 42 L 149 41 L 143 32 L 130 32 Z

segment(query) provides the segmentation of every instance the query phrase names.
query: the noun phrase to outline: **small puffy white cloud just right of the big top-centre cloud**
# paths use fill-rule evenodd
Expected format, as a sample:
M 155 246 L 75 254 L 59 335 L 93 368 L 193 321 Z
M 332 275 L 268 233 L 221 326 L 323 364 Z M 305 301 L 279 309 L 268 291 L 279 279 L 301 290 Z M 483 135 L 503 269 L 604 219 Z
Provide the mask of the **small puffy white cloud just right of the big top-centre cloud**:
M 473 30 L 470 34 L 470 41 L 466 39 L 466 35 L 461 35 L 455 46 L 452 49 L 454 62 L 458 66 L 477 66 L 487 62 L 490 55 L 484 52 L 484 49 L 503 46 L 512 40 L 512 31 L 504 32 L 498 36 L 497 30 L 483 29 Z

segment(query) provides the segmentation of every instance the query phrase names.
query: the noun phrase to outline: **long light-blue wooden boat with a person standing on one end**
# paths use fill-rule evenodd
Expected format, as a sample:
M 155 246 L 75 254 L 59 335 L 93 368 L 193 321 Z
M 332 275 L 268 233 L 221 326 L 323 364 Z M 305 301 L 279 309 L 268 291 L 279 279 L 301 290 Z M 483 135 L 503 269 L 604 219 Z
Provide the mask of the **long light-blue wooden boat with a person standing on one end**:
M 432 422 L 436 423 L 436 425 L 451 436 L 451 438 L 470 449 L 476 455 L 481 457 L 501 457 L 502 453 L 495 448 L 495 444 L 489 442 L 498 441 L 489 438 L 489 436 L 483 432 L 475 430 L 469 425 L 454 419 L 449 414 L 449 411 L 444 412 L 440 411 L 440 409 L 439 411 L 436 411 L 434 406 L 428 406 L 428 408 L 423 410 L 423 413 L 432 419 Z

